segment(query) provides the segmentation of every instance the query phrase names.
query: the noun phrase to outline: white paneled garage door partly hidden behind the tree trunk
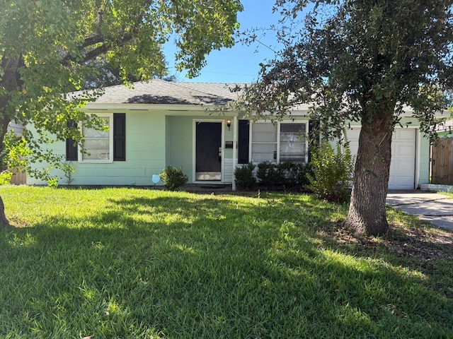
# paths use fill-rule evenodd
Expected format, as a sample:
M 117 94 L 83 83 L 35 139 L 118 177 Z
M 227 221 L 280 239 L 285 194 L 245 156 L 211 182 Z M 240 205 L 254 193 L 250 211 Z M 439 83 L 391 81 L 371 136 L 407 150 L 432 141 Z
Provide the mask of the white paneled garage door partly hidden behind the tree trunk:
M 346 131 L 352 155 L 357 155 L 360 129 Z M 415 129 L 395 129 L 391 138 L 389 189 L 415 188 Z

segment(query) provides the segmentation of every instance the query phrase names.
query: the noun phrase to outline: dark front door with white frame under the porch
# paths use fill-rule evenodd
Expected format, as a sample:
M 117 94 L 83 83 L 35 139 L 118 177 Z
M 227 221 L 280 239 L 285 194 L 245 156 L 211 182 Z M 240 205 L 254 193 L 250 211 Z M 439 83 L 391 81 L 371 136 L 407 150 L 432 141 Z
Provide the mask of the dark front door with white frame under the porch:
M 197 122 L 195 179 L 222 180 L 222 123 Z

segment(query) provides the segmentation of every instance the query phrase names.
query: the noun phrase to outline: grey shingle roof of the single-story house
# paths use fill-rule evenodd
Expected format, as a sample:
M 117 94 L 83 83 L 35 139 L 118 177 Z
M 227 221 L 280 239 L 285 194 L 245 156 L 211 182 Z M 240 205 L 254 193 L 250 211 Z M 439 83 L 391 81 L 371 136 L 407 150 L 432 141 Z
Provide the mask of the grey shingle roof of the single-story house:
M 231 83 L 178 83 L 152 80 L 133 83 L 133 88 L 116 85 L 105 88 L 96 103 L 224 105 L 236 100 L 241 85 Z

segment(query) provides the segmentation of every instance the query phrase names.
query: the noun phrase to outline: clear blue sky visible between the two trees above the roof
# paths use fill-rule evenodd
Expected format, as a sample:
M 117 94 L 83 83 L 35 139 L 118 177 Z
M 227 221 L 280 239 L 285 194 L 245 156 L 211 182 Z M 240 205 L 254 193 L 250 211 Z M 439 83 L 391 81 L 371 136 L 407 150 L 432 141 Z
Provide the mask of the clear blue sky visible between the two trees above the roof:
M 241 31 L 250 28 L 268 28 L 276 24 L 280 18 L 278 13 L 272 13 L 275 0 L 243 0 L 243 12 L 239 13 L 238 20 Z M 168 71 L 176 73 L 178 81 L 202 83 L 250 83 L 258 78 L 260 62 L 273 59 L 274 52 L 266 47 L 276 47 L 275 32 L 264 30 L 258 32 L 258 38 L 263 44 L 255 43 L 246 46 L 240 42 L 230 49 L 221 49 L 211 52 L 206 60 L 207 66 L 202 69 L 197 78 L 185 78 L 185 73 L 177 73 L 174 69 L 174 48 L 166 46 Z M 274 48 L 275 49 L 275 48 Z

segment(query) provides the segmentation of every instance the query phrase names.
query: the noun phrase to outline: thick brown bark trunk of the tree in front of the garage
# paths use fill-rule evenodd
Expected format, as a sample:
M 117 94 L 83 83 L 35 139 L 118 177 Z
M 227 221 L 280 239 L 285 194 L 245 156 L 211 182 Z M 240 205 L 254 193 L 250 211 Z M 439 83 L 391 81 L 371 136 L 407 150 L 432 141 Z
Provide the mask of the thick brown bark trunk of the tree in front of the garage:
M 386 196 L 391 160 L 392 114 L 362 121 L 346 226 L 359 234 L 382 235 L 389 229 Z

